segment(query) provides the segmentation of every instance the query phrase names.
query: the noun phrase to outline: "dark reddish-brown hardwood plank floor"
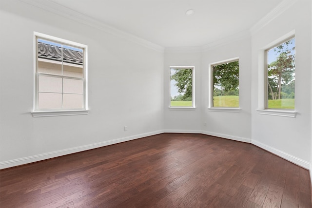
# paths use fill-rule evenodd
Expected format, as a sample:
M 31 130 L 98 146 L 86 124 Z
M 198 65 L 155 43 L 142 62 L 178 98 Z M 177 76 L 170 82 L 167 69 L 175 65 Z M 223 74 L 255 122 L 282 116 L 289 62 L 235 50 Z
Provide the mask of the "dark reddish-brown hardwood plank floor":
M 311 208 L 309 171 L 252 144 L 163 133 L 0 170 L 1 208 Z

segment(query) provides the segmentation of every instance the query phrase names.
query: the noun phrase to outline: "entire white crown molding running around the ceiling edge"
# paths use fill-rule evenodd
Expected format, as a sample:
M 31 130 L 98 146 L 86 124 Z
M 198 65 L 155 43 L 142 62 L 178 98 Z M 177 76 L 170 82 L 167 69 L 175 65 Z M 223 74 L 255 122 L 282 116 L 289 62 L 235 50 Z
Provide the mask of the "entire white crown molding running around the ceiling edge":
M 239 39 L 243 38 L 249 38 L 250 36 L 257 33 L 259 30 L 261 30 L 263 27 L 265 27 L 267 24 L 269 24 L 273 19 L 278 17 L 280 14 L 282 14 L 285 10 L 287 10 L 289 7 L 291 7 L 295 2 L 298 0 L 283 0 L 280 4 L 278 4 L 270 13 L 268 13 L 266 16 L 264 16 L 262 19 L 260 19 L 257 23 L 254 24 L 249 30 L 238 32 L 234 35 L 223 37 L 218 40 L 211 41 L 210 43 L 203 45 L 203 46 L 195 46 L 195 47 L 163 47 L 160 45 L 157 45 L 153 42 L 150 42 L 146 39 L 139 38 L 135 35 L 132 35 L 130 33 L 127 33 L 125 31 L 119 30 L 115 27 L 112 27 L 108 24 L 103 23 L 102 21 L 99 21 L 97 19 L 93 19 L 87 15 L 84 15 L 82 13 L 79 13 L 75 10 L 72 10 L 70 8 L 64 7 L 58 3 L 55 3 L 51 0 L 20 0 L 24 3 L 30 4 L 32 6 L 38 7 L 40 9 L 49 11 L 51 13 L 54 13 L 56 15 L 62 16 L 67 19 L 72 19 L 74 21 L 77 21 L 79 23 L 97 28 L 105 33 L 111 34 L 113 36 L 127 39 L 129 41 L 135 42 L 139 45 L 142 45 L 144 47 L 156 50 L 158 52 L 162 53 L 198 53 L 198 52 L 205 52 L 209 51 L 215 47 L 219 47 L 222 45 L 229 44 L 231 42 L 237 41 Z

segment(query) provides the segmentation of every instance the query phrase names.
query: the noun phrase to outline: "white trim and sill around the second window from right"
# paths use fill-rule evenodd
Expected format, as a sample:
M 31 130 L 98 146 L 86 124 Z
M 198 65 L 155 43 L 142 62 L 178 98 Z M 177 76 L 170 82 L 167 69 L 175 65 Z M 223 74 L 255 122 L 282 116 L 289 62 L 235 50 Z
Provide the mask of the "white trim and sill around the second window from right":
M 209 92 L 208 92 L 208 111 L 212 111 L 212 112 L 230 112 L 230 113 L 239 113 L 241 111 L 241 108 L 236 108 L 236 107 L 214 107 L 213 105 L 213 99 L 214 99 L 214 87 L 212 86 L 213 83 L 213 66 L 215 65 L 220 65 L 220 64 L 224 64 L 224 63 L 229 63 L 229 62 L 234 62 L 234 61 L 239 61 L 239 57 L 234 57 L 234 58 L 229 58 L 223 61 L 218 61 L 215 63 L 211 63 L 209 64 L 209 78 L 208 78 L 208 84 L 209 84 Z M 239 99 L 239 96 L 238 96 Z M 240 102 L 239 102 L 240 103 Z

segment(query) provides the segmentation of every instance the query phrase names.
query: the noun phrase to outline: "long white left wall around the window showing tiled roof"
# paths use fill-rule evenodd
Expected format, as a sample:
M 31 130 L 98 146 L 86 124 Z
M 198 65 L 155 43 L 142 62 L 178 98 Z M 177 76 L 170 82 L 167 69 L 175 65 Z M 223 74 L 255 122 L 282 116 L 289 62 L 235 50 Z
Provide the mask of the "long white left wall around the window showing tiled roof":
M 0 8 L 0 168 L 162 132 L 163 52 L 19 0 Z M 32 117 L 34 31 L 88 45 L 88 115 Z

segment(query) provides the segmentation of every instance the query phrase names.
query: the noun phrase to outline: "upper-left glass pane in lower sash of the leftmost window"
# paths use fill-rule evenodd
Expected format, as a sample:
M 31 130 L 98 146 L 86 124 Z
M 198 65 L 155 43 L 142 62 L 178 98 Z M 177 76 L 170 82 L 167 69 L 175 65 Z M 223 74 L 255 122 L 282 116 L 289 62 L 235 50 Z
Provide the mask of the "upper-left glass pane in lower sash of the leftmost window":
M 39 92 L 62 92 L 62 78 L 53 76 L 39 76 Z

